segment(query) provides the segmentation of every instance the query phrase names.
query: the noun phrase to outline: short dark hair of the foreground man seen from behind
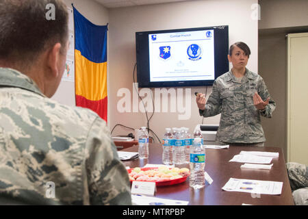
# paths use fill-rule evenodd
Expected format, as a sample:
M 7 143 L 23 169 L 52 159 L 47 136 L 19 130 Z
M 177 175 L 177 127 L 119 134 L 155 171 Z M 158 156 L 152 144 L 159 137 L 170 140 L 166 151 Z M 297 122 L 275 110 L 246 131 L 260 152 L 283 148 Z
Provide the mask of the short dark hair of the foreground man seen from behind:
M 47 4 L 55 6 L 55 20 L 47 19 Z M 0 59 L 34 62 L 36 57 L 68 40 L 68 11 L 62 0 L 0 0 Z M 63 50 L 62 50 L 63 51 Z

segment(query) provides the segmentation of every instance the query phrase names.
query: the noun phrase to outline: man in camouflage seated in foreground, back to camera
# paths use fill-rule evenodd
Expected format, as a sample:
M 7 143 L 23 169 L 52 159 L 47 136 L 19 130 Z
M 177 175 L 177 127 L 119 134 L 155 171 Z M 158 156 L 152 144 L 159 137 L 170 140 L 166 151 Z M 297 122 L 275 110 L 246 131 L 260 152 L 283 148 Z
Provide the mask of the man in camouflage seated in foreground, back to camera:
M 66 62 L 66 5 L 1 0 L 0 14 L 0 204 L 131 205 L 105 121 L 49 99 Z

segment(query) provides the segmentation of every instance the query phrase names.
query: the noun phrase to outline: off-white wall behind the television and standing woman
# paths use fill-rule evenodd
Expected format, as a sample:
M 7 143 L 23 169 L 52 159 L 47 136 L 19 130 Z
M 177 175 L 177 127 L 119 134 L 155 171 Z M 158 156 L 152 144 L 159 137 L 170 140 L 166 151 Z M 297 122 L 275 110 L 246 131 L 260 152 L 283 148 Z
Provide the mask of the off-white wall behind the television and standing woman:
M 212 25 L 229 25 L 229 44 L 236 41 L 246 42 L 251 48 L 248 68 L 257 73 L 258 54 L 258 22 L 251 18 L 251 6 L 257 0 L 221 0 L 221 1 L 190 1 L 179 3 L 165 3 L 158 5 L 141 5 L 129 8 L 115 8 L 109 11 L 110 31 L 108 62 L 110 70 L 110 128 L 117 123 L 139 128 L 146 126 L 146 116 L 142 112 L 123 112 L 117 109 L 117 104 L 123 97 L 117 96 L 118 90 L 128 88 L 131 92 L 133 66 L 136 63 L 136 31 L 158 29 L 180 29 L 188 27 L 207 27 Z M 151 129 L 162 138 L 165 127 L 189 127 L 190 131 L 196 124 L 201 123 L 198 115 L 194 92 L 205 92 L 205 87 L 191 88 L 188 95 L 189 103 L 183 105 L 186 112 L 191 111 L 190 118 L 179 120 L 179 114 L 156 112 L 151 120 Z M 207 90 L 207 96 L 211 87 Z M 185 90 L 184 90 L 185 93 Z M 170 104 L 170 99 L 168 101 Z M 185 95 L 183 99 L 185 103 Z M 132 107 L 131 107 L 132 108 Z M 168 108 L 170 109 L 170 108 Z M 131 109 L 132 110 L 132 109 Z M 151 113 L 149 113 L 151 116 Z M 205 118 L 204 123 L 218 124 L 220 116 Z M 116 128 L 113 135 L 127 134 L 129 129 Z

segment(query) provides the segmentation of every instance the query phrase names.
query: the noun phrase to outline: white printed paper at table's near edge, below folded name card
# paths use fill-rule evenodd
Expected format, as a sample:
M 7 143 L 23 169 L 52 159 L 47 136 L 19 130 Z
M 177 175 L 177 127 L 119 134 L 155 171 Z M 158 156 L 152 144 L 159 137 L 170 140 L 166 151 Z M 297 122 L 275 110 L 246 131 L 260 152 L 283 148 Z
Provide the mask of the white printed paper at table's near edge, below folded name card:
M 149 196 L 131 195 L 133 205 L 188 205 L 188 201 L 156 198 Z

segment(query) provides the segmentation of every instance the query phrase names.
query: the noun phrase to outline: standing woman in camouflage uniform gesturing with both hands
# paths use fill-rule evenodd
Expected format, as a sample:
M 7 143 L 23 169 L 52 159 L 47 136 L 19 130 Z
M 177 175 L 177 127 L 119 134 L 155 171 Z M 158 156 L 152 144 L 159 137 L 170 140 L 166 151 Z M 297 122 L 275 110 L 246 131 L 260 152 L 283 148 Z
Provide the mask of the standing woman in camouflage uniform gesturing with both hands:
M 239 48 L 238 50 L 242 51 Z M 250 50 L 247 52 L 242 51 L 242 53 L 244 53 L 242 60 L 239 60 L 244 62 L 244 56 L 246 55 L 247 62 Z M 231 56 L 228 55 L 228 57 Z M 212 92 L 206 102 L 205 94 L 197 95 L 196 103 L 199 114 L 209 117 L 221 113 L 216 134 L 218 143 L 264 146 L 266 138 L 261 127 L 260 116 L 272 117 L 276 103 L 270 98 L 266 84 L 261 76 L 245 68 L 246 64 L 238 67 L 242 70 L 242 77 L 239 79 L 235 77 L 233 74 L 233 71 L 235 72 L 236 70 L 235 64 L 233 62 L 232 70 L 224 73 L 214 81 Z M 258 110 L 258 108 L 261 110 Z

